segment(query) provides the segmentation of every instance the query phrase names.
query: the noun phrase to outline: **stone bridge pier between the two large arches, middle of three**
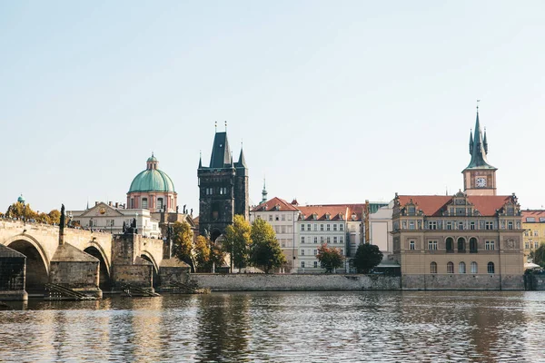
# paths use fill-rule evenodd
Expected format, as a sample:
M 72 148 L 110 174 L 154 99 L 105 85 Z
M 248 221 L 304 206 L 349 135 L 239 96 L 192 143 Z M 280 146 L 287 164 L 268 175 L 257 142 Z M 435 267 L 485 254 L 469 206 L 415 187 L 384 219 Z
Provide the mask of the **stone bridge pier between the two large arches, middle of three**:
M 99 289 L 100 261 L 69 243 L 60 244 L 49 269 L 49 283 L 73 289 L 87 296 L 102 298 Z

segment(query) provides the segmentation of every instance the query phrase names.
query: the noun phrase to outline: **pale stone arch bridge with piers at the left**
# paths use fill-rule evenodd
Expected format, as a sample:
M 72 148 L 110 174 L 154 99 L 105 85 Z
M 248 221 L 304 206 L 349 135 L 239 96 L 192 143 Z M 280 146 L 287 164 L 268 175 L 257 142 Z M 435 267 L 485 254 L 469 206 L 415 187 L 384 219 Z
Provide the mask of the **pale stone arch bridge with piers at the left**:
M 124 284 L 153 290 L 182 279 L 188 270 L 171 259 L 170 242 L 71 228 L 64 229 L 60 242 L 59 233 L 58 226 L 0 220 L 0 300 L 3 291 L 4 298 L 16 299 L 20 293 L 13 291 L 21 290 L 43 295 L 52 282 L 97 296 Z M 22 276 L 17 258 L 25 261 Z

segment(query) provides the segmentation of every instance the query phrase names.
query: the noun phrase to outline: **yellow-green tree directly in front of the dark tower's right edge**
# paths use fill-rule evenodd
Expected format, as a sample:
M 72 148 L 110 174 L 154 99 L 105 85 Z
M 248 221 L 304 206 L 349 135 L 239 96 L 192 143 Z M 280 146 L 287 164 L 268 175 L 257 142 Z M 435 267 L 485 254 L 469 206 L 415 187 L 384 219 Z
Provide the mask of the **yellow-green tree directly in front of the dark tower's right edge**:
M 233 224 L 225 229 L 223 251 L 231 256 L 231 272 L 233 265 L 239 273 L 248 264 L 250 245 L 252 244 L 252 226 L 242 215 L 235 215 Z

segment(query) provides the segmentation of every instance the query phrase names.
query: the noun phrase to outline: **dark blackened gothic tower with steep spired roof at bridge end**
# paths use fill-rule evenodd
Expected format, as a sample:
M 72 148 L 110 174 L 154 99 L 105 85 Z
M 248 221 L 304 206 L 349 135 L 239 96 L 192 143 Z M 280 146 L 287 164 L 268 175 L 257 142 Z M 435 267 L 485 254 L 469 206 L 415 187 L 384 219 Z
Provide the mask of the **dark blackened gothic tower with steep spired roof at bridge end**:
M 233 224 L 235 214 L 249 219 L 248 167 L 243 148 L 238 162 L 233 162 L 227 132 L 215 132 L 210 165 L 203 166 L 202 157 L 197 169 L 199 182 L 199 233 L 210 233 L 217 239 L 225 228 Z

